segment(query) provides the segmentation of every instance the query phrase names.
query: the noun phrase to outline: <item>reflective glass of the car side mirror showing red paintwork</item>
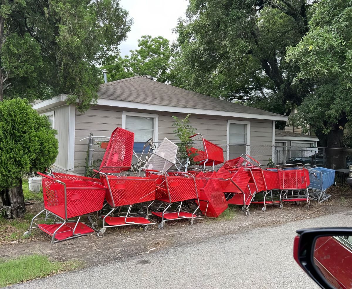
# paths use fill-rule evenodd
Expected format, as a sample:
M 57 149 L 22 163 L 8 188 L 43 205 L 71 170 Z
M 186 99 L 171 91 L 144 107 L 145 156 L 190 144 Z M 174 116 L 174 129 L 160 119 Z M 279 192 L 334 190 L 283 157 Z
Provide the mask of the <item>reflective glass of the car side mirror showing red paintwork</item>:
M 314 244 L 313 264 L 334 288 L 352 288 L 352 235 L 321 236 Z

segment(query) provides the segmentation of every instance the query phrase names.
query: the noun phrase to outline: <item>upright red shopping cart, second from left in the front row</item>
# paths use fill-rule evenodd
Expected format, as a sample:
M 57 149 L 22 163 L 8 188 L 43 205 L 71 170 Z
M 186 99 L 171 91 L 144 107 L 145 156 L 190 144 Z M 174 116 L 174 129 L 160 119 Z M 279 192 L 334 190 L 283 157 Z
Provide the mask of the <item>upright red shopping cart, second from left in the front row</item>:
M 103 184 L 107 187 L 106 202 L 111 209 L 102 210 L 103 225 L 98 236 L 105 234 L 106 228 L 121 227 L 127 225 L 140 225 L 144 230 L 149 230 L 151 225 L 156 224 L 149 218 L 149 211 L 145 216 L 132 213 L 132 206 L 139 203 L 155 201 L 155 179 L 144 177 L 120 177 L 100 172 Z M 127 207 L 127 211 L 122 211 Z M 104 214 L 103 211 L 107 211 Z M 106 225 L 107 224 L 107 225 Z

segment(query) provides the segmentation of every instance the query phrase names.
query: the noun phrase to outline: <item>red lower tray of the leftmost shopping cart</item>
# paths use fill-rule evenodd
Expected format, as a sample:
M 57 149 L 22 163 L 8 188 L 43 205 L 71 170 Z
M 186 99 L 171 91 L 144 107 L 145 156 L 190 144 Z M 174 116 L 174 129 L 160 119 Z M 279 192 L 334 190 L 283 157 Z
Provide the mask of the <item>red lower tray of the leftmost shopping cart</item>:
M 62 223 L 56 223 L 56 224 L 39 224 L 38 228 L 45 232 L 46 234 L 49 234 L 52 236 L 55 232 L 55 230 L 60 227 Z M 73 229 L 75 228 L 76 223 L 66 223 L 63 225 L 55 234 L 55 239 L 56 240 L 65 240 L 67 238 L 73 237 Z M 89 234 L 94 232 L 94 230 L 87 225 L 79 222 L 76 230 L 75 230 L 75 235 L 81 234 Z

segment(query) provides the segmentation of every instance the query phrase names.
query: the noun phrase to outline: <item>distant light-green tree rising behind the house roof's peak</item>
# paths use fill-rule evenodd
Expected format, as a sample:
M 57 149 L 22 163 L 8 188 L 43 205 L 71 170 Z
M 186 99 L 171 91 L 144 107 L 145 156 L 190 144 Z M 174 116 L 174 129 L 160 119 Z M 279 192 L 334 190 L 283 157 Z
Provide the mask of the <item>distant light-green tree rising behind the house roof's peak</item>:
M 138 49 L 130 50 L 131 57 L 117 57 L 103 66 L 108 71 L 109 81 L 128 78 L 134 75 L 151 75 L 159 82 L 169 80 L 172 52 L 169 40 L 144 35 L 138 40 Z

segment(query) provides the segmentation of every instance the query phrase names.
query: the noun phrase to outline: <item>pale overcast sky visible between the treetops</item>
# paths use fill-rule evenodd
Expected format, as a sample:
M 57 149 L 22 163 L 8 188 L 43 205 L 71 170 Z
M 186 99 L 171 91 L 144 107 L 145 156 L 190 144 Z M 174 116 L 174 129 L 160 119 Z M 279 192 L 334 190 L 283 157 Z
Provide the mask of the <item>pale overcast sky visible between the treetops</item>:
M 187 0 L 120 0 L 120 5 L 129 11 L 133 18 L 127 40 L 119 46 L 120 55 L 131 55 L 130 50 L 138 48 L 142 35 L 163 36 L 170 43 L 177 38 L 171 29 L 177 25 L 179 17 L 184 18 Z

